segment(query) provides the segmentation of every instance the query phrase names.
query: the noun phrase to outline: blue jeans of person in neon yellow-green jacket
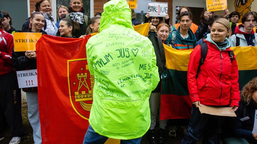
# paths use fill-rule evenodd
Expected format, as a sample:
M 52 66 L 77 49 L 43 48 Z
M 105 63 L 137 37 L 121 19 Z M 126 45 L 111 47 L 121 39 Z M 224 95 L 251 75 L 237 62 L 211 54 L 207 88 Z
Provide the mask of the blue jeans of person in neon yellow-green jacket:
M 127 139 L 127 140 L 120 140 L 120 144 L 139 144 L 141 138 L 135 139 Z M 89 125 L 86 131 L 86 135 L 83 141 L 83 144 L 104 144 L 107 141 L 107 137 L 100 135 L 93 130 L 93 128 Z

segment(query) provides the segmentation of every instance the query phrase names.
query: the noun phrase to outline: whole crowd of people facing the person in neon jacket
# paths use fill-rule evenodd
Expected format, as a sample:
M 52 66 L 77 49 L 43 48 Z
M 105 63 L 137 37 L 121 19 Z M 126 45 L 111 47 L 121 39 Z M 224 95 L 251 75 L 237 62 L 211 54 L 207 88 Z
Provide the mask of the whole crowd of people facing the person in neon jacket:
M 25 135 L 21 118 L 21 93 L 18 88 L 15 70 L 36 69 L 36 52 L 15 52 L 13 36 L 15 32 L 34 32 L 59 36 L 64 38 L 85 38 L 85 35 L 99 32 L 101 13 L 89 18 L 84 15 L 82 0 L 71 0 L 70 7 L 57 8 L 58 22 L 53 22 L 52 7 L 48 0 L 36 2 L 35 11 L 23 23 L 22 30 L 15 30 L 11 16 L 0 12 L 0 141 L 3 135 L 3 115 L 11 127 L 12 140 L 10 144 L 19 143 Z M 219 143 L 219 134 L 222 130 L 224 117 L 209 114 L 200 114 L 201 104 L 210 106 L 230 107 L 237 117 L 230 118 L 230 133 L 233 136 L 223 138 L 224 143 L 251 142 L 257 143 L 257 134 L 251 134 L 255 109 L 257 108 L 257 77 L 239 94 L 238 66 L 235 55 L 230 47 L 257 46 L 257 13 L 247 12 L 242 17 L 242 24 L 237 26 L 240 14 L 224 10 L 224 15 L 218 15 L 206 9 L 201 14 L 199 25 L 192 23 L 192 13 L 187 7 L 180 7 L 178 23 L 169 24 L 170 17 L 152 17 L 145 15 L 145 23 L 150 23 L 147 36 L 154 46 L 157 57 L 159 78 L 165 67 L 163 58 L 163 43 L 177 50 L 194 49 L 190 55 L 187 73 L 187 84 L 192 100 L 192 117 L 188 128 L 184 128 L 185 136 L 181 143 L 194 143 L 204 135 L 203 143 Z M 144 23 L 143 22 L 143 23 Z M 106 23 L 105 23 L 106 24 Z M 131 9 L 131 25 L 141 23 L 136 20 L 135 12 Z M 230 36 L 231 35 L 231 36 Z M 207 52 L 208 49 L 208 52 Z M 202 51 L 206 51 L 202 59 Z M 33 138 L 36 144 L 41 141 L 41 128 L 38 109 L 37 87 L 23 88 L 27 95 L 28 119 L 33 129 Z M 151 144 L 165 142 L 165 128 L 167 120 L 159 121 L 158 138 L 156 137 L 156 121 L 160 111 L 161 81 L 151 92 L 149 142 Z M 208 97 L 206 97 L 208 95 Z M 241 98 L 241 101 L 240 101 Z M 246 113 L 242 113 L 241 111 Z M 240 120 L 248 116 L 250 119 Z M 169 128 L 169 135 L 176 136 L 176 128 Z M 236 139 L 244 138 L 244 139 Z

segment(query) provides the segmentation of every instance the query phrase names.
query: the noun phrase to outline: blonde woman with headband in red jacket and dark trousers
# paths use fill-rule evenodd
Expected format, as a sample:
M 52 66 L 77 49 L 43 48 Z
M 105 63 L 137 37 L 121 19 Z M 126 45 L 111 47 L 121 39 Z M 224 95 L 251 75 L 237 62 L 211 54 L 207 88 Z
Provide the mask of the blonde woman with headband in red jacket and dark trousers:
M 188 64 L 187 85 L 193 102 L 192 117 L 186 135 L 181 143 L 194 143 L 202 134 L 203 143 L 220 143 L 219 133 L 222 116 L 201 114 L 199 106 L 222 106 L 236 111 L 240 101 L 238 87 L 238 66 L 231 61 L 229 53 L 230 23 L 219 18 L 207 34 L 208 47 L 206 58 L 198 70 L 201 61 L 201 46 L 192 51 Z M 203 46 L 203 45 L 202 45 Z M 198 75 L 197 75 L 198 73 Z M 197 78 L 196 78 L 197 75 Z

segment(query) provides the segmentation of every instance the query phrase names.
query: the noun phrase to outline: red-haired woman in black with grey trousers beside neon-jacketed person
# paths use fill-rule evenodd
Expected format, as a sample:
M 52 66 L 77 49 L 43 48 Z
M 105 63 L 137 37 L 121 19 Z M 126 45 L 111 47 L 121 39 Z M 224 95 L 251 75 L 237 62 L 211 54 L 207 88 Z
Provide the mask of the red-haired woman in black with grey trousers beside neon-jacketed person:
M 165 52 L 163 43 L 168 38 L 169 35 L 169 26 L 166 23 L 161 23 L 157 27 L 157 34 L 150 34 L 147 37 L 150 39 L 154 46 L 154 51 L 156 55 L 156 66 L 158 67 L 159 78 L 160 81 L 157 87 L 151 92 L 149 98 L 149 105 L 150 105 L 150 114 L 151 114 L 151 124 L 149 128 L 149 142 L 150 144 L 156 144 L 157 141 L 159 144 L 165 142 L 165 127 L 167 124 L 167 120 L 160 120 L 159 121 L 159 130 L 158 130 L 158 139 L 155 137 L 155 126 L 156 126 L 156 119 L 158 115 L 158 111 L 160 114 L 161 109 L 161 75 L 163 70 L 165 69 L 166 59 L 165 59 Z M 164 36 L 165 35 L 165 36 Z M 169 44 L 167 44 L 169 46 Z

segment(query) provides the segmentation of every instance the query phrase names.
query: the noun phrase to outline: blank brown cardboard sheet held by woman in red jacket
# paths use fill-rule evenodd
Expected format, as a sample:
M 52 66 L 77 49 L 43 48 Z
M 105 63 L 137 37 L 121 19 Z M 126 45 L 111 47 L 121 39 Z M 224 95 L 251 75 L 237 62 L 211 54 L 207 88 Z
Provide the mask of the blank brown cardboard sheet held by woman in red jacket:
M 202 106 L 199 106 L 199 110 L 201 114 L 236 117 L 234 110 L 230 110 L 230 107 L 205 106 L 202 104 Z

